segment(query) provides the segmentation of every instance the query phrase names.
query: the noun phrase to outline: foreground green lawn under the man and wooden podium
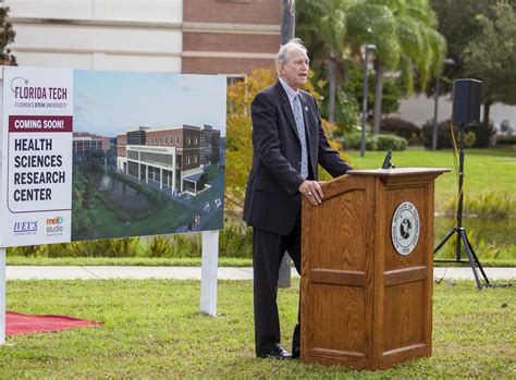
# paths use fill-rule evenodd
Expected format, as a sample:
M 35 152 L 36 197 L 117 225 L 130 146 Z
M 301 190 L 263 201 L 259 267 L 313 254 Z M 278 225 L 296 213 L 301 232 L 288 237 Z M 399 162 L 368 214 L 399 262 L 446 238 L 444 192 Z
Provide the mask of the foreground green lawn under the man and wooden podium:
M 284 345 L 296 321 L 296 286 L 279 294 Z M 222 281 L 219 317 L 199 310 L 198 281 L 9 281 L 8 309 L 67 315 L 103 327 L 8 338 L 0 378 L 514 378 L 516 292 L 472 282 L 434 286 L 433 355 L 356 371 L 257 359 L 251 282 Z

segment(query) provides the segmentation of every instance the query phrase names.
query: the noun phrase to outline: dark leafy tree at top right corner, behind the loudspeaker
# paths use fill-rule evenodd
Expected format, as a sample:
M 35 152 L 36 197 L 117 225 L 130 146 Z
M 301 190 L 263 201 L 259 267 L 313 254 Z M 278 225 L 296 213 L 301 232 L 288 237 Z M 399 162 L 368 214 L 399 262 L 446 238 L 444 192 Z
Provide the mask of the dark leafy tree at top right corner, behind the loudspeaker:
M 480 29 L 464 49 L 464 72 L 482 81 L 483 124 L 494 102 L 516 105 L 516 13 L 499 2 L 477 16 Z

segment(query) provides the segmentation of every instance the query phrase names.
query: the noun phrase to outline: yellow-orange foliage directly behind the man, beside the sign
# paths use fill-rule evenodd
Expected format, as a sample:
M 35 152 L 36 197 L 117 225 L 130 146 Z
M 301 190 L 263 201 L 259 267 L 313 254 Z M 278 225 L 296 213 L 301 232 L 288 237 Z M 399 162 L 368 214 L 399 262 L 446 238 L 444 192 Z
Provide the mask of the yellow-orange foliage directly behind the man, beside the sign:
M 228 87 L 225 204 L 230 218 L 238 218 L 242 212 L 253 160 L 250 103 L 259 90 L 273 85 L 277 78 L 278 74 L 273 68 L 255 70 L 245 81 Z M 304 89 L 320 100 L 319 90 L 324 83 L 312 84 L 312 78 L 314 72 L 310 72 Z M 331 137 L 335 125 L 323 120 L 323 127 Z M 330 138 L 330 144 L 335 150 L 341 149 L 337 140 Z M 322 176 L 324 177 L 324 174 Z

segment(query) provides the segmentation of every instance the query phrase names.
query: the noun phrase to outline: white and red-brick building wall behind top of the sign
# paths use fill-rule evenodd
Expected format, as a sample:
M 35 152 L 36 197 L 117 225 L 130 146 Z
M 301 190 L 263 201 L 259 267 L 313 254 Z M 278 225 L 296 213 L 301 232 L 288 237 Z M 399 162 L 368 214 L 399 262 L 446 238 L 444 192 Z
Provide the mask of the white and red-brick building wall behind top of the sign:
M 279 0 L 4 0 L 20 65 L 242 75 L 271 66 Z

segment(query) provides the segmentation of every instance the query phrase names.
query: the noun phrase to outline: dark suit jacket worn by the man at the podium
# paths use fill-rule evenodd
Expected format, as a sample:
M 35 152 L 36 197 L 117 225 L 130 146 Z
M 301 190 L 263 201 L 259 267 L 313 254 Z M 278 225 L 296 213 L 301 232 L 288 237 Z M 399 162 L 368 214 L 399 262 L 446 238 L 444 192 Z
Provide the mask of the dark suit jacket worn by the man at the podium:
M 351 169 L 331 149 L 316 99 L 300 90 L 309 154 L 309 171 L 318 179 L 321 164 L 332 176 Z M 253 166 L 247 182 L 244 220 L 257 229 L 288 234 L 300 209 L 298 188 L 305 181 L 300 174 L 300 142 L 288 97 L 278 81 L 261 90 L 251 103 Z

